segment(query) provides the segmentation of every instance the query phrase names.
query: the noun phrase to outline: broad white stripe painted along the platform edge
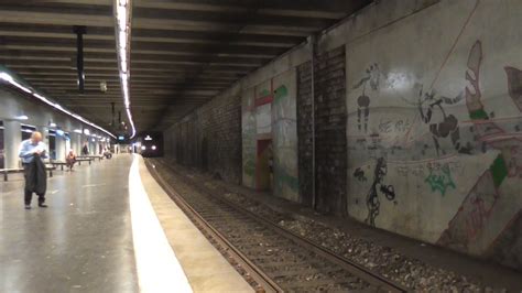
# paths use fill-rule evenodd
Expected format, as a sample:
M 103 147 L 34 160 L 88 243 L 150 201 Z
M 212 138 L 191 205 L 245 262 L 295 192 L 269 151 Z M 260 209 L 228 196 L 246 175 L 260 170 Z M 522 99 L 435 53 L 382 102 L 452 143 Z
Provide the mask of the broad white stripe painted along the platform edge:
M 192 293 L 193 290 L 172 250 L 140 177 L 134 154 L 129 172 L 129 205 L 140 292 Z

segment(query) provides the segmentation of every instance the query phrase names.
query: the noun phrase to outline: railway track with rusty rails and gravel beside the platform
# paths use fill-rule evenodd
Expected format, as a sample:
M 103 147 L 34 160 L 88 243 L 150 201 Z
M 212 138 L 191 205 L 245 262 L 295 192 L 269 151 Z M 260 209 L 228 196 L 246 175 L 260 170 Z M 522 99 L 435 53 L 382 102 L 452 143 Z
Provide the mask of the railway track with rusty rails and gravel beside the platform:
M 260 217 L 213 194 L 162 160 L 145 162 L 173 200 L 258 292 L 406 292 L 282 228 L 279 219 Z

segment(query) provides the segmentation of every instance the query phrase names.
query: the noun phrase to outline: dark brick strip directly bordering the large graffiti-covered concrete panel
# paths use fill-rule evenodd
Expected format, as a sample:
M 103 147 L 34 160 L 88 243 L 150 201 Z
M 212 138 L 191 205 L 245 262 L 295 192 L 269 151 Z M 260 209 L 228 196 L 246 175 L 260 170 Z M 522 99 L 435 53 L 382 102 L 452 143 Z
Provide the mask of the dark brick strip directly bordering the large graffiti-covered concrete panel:
M 315 59 L 317 208 L 346 214 L 346 74 L 345 47 Z

